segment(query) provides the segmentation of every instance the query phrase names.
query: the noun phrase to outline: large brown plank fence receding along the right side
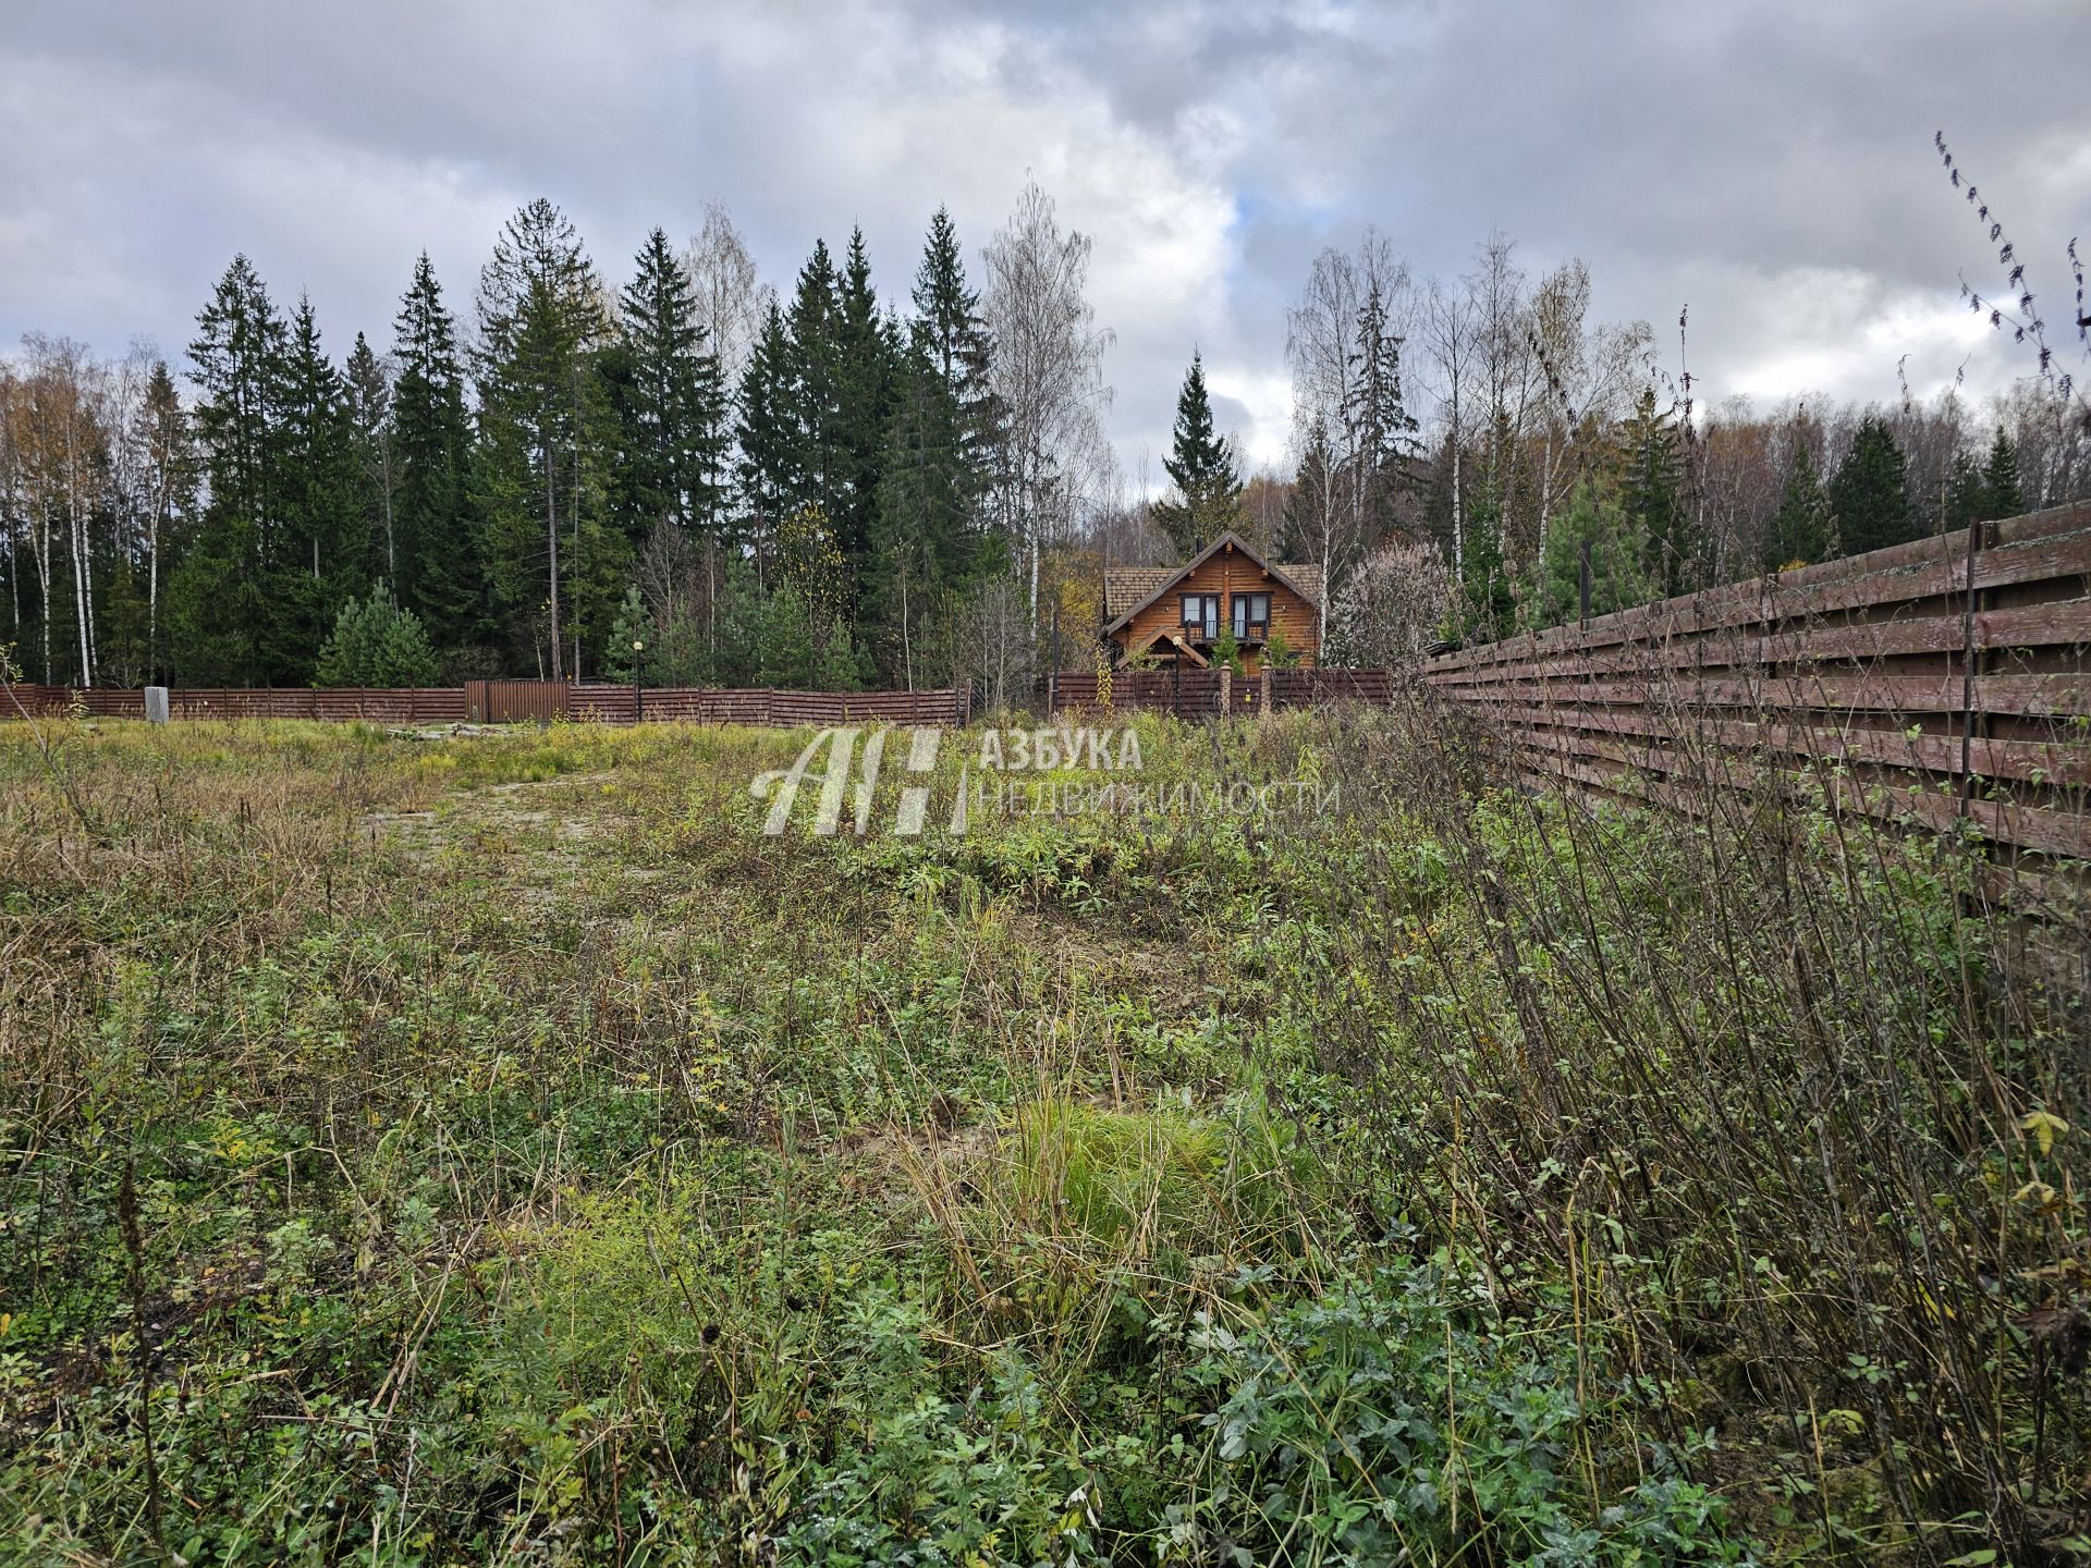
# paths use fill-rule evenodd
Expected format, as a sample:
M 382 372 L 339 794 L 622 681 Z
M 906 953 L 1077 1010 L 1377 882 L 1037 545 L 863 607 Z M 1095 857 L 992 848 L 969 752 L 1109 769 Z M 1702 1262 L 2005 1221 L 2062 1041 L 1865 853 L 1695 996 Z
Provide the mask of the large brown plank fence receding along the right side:
M 1664 797 L 1708 751 L 1851 809 L 2091 855 L 2091 506 L 1447 654 L 1424 682 L 1535 778 Z

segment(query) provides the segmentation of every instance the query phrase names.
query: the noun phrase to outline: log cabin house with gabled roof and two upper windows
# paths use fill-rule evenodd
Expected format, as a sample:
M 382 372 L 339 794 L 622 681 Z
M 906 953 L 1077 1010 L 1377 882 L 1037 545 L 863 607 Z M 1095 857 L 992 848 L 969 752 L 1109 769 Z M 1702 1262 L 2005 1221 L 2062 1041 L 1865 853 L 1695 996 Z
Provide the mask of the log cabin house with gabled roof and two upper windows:
M 1104 571 L 1104 642 L 1110 663 L 1152 659 L 1163 669 L 1207 669 L 1221 629 L 1234 631 L 1242 673 L 1263 667 L 1271 633 L 1311 669 L 1322 663 L 1322 567 L 1273 567 L 1223 533 L 1184 567 Z

